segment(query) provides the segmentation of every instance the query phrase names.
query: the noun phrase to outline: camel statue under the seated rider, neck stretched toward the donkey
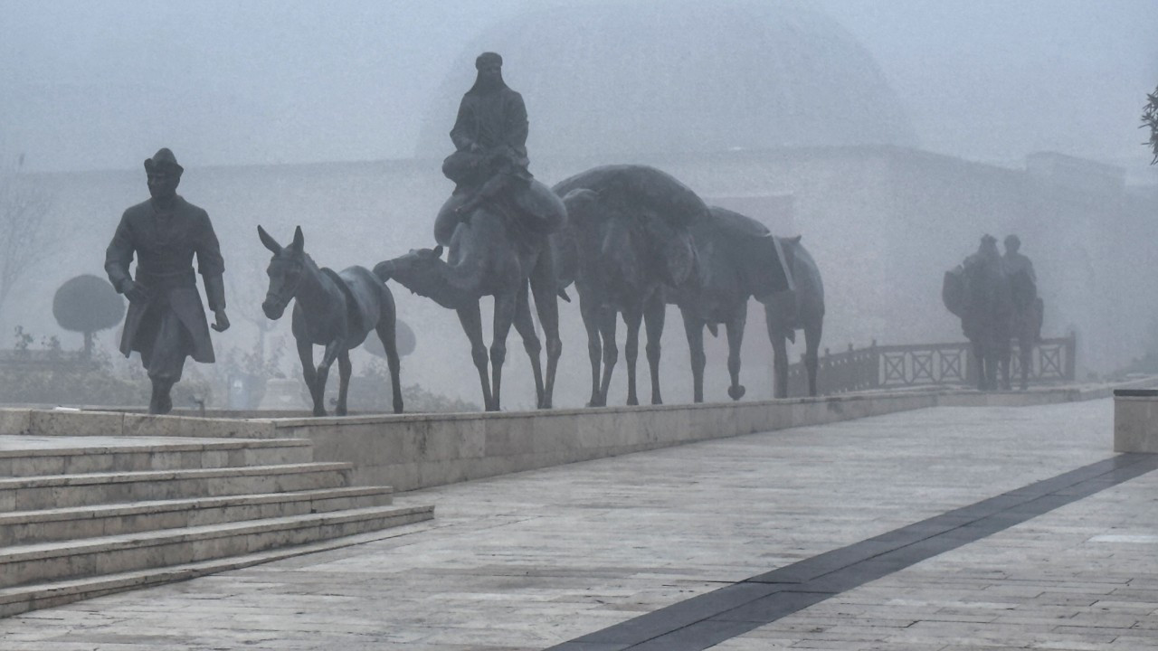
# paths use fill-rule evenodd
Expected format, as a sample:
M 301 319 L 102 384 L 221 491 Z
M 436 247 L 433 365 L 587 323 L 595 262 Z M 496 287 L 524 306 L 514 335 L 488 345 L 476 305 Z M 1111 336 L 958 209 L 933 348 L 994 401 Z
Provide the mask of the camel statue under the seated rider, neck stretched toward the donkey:
M 406 255 L 374 265 L 374 275 L 382 281 L 395 280 L 411 292 L 457 312 L 462 329 L 470 341 L 470 354 L 478 370 L 483 404 L 488 411 L 499 410 L 503 363 L 506 359 L 506 338 L 511 326 L 522 337 L 523 349 L 530 357 L 538 409 L 551 407 L 556 368 L 563 351 L 555 264 L 548 236 L 563 227 L 566 212 L 550 189 L 535 181 L 532 184 L 528 200 L 545 206 L 540 207 L 536 213 L 554 215 L 557 221 L 528 224 L 534 218 L 503 210 L 491 202 L 472 207 L 464 219 L 450 221 L 444 219 L 452 214 L 444 206 L 444 214 L 440 214 L 435 226 L 435 237 L 440 240 L 435 248 L 412 249 Z M 441 241 L 446 241 L 448 249 L 446 261 L 441 257 Z M 547 338 L 545 379 L 540 363 L 542 344 L 535 334 L 527 295 L 528 285 L 535 297 L 535 310 Z M 483 297 L 494 298 L 490 376 L 479 310 Z

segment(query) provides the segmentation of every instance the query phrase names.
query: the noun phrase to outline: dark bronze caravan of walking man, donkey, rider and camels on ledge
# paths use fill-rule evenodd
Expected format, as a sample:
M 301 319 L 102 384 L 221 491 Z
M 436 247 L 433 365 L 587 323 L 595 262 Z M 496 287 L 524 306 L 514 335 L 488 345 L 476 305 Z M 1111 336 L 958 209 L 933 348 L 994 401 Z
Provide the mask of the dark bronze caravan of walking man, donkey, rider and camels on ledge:
M 636 357 L 642 324 L 647 335 L 651 402 L 661 402 L 659 342 L 669 303 L 683 316 L 695 401 L 703 400 L 703 330 L 706 327 L 714 335 L 720 323 L 730 350 L 728 395 L 739 400 L 745 394 L 739 381 L 740 344 L 749 298 L 764 306 L 777 396 L 786 395 L 785 339 L 794 341 L 798 329 L 805 332 L 809 393 L 815 395 L 823 284 L 800 239 L 772 236 L 748 217 L 709 207 L 680 181 L 646 166 L 598 167 L 545 186 L 528 169 L 527 110 L 522 96 L 503 81 L 501 66 L 503 59 L 493 52 L 475 61 L 477 79 L 463 96 L 450 131 L 455 152 L 442 164 L 455 189 L 434 220 L 435 248 L 411 250 L 380 262 L 373 271 L 351 266 L 335 272 L 318 268 L 306 254 L 301 227 L 287 246 L 257 227 L 272 253 L 262 309 L 269 319 L 279 319 L 294 301 L 292 329 L 314 415 L 325 415 L 324 389 L 335 361 L 339 372 L 336 412 L 346 412 L 350 350 L 372 330 L 387 353 L 394 411 L 402 411 L 396 314 L 387 281 L 457 313 L 486 410 L 500 407 L 512 326 L 530 358 L 536 404 L 551 407 L 562 351 L 557 299 L 570 301 L 566 290 L 572 284 L 588 336 L 591 405 L 607 404 L 618 358 L 615 335 L 621 314 L 628 329 L 628 404 L 638 404 Z M 125 211 L 107 251 L 105 271 L 130 300 L 120 351 L 140 353 L 153 387 L 149 412 L 167 414 L 185 358 L 214 360 L 193 257 L 218 331 L 229 327 L 225 265 L 206 212 L 176 193 L 183 168 L 173 152 L 162 148 L 146 160 L 145 173 L 151 198 Z M 130 275 L 134 256 L 135 273 Z M 545 337 L 545 373 L 530 295 Z M 482 334 L 483 297 L 494 301 L 489 349 Z M 316 367 L 314 345 L 324 346 Z

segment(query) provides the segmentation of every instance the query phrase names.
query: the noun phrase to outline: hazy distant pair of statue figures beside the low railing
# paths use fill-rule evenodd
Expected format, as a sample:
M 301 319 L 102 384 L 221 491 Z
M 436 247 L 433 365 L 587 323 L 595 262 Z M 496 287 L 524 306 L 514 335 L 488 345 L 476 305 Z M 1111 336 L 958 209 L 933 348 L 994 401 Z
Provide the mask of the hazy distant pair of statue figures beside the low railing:
M 1041 339 L 1045 303 L 1038 295 L 1033 263 L 1020 249 L 1021 240 L 1009 235 L 1003 256 L 997 250 L 997 239 L 985 234 L 977 253 L 945 272 L 941 299 L 961 319 L 961 329 L 973 344 L 981 390 L 1011 388 L 1013 341 L 1018 343 L 1020 388 L 1025 390 L 1028 386 L 1033 346 Z

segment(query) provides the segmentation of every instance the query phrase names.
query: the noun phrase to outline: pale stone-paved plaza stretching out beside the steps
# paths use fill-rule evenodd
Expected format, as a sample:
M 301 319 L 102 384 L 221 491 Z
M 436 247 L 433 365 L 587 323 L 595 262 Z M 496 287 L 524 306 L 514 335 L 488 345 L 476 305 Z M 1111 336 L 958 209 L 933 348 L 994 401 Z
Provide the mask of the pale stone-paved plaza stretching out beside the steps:
M 924 409 L 415 491 L 397 504 L 434 520 L 0 620 L 0 649 L 1158 649 L 1158 463 L 1080 470 L 1115 456 L 1112 426 L 1109 400 Z M 1053 480 L 1075 470 L 1082 490 Z M 714 637 L 679 628 L 770 592 L 741 581 L 1046 480 L 1040 514 Z

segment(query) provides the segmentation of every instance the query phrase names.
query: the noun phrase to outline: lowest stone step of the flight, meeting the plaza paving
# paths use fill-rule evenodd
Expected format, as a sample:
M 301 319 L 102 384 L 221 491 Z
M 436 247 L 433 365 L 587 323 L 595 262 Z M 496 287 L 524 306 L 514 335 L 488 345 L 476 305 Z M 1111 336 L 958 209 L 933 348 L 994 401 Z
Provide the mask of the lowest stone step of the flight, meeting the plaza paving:
M 63 581 L 46 581 L 23 585 L 19 587 L 0 588 L 0 617 L 8 617 L 27 613 L 37 608 L 52 608 L 63 606 L 82 599 L 91 599 L 103 594 L 139 590 L 166 583 L 186 580 L 203 577 L 227 570 L 249 568 L 261 563 L 269 563 L 281 558 L 291 558 L 305 554 L 316 554 L 349 547 L 351 544 L 362 544 L 375 540 L 383 540 L 398 535 L 405 535 L 412 531 L 423 531 L 422 522 L 433 518 L 433 507 L 418 507 L 425 512 L 412 513 L 412 522 L 398 521 L 389 524 L 386 531 L 375 531 L 359 535 L 343 536 L 308 544 L 294 547 L 281 547 L 266 551 L 257 551 L 241 556 L 226 558 L 213 558 L 198 563 L 183 563 L 167 568 L 153 568 L 132 572 L 118 572 L 98 577 L 85 577 Z M 410 526 L 406 526 L 410 525 Z M 402 527 L 402 528 L 396 528 Z

